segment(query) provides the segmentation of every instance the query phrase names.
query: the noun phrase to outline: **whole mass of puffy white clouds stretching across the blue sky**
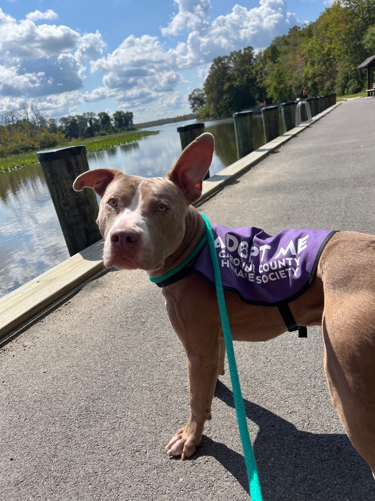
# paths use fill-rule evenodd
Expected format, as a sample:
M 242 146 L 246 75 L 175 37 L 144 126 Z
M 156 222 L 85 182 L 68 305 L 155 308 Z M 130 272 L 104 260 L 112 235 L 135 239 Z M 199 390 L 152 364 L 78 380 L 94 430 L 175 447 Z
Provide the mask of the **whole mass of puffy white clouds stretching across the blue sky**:
M 130 35 L 108 54 L 98 31 L 81 35 L 48 23 L 57 18 L 52 10 L 17 21 L 0 9 L 0 109 L 31 99 L 46 116 L 58 116 L 106 98 L 134 112 L 151 103 L 158 111 L 174 109 L 185 100 L 176 91 L 186 83 L 185 69 L 196 68 L 203 81 L 215 57 L 249 45 L 264 48 L 300 24 L 284 0 L 259 0 L 252 9 L 234 5 L 215 19 L 210 0 L 174 0 L 174 7 L 160 37 Z M 89 91 L 83 90 L 88 70 L 102 74 L 101 85 Z

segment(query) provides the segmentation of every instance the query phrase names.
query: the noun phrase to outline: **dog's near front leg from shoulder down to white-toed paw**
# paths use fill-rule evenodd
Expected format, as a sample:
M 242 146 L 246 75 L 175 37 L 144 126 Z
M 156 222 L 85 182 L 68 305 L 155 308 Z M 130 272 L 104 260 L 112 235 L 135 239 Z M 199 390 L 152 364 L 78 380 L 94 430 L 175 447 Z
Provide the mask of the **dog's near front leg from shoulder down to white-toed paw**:
M 166 446 L 168 454 L 183 459 L 201 445 L 217 375 L 224 372 L 225 346 L 213 287 L 190 275 L 167 287 L 163 295 L 170 323 L 186 352 L 190 416 Z

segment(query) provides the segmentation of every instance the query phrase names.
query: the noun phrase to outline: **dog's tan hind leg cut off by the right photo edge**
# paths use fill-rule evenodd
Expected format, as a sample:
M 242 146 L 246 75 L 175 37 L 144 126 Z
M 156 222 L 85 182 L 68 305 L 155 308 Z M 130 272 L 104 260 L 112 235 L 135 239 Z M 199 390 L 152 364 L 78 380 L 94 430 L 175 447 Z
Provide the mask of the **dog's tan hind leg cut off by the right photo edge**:
M 362 291 L 329 291 L 322 330 L 332 402 L 375 478 L 375 313 L 369 299 Z

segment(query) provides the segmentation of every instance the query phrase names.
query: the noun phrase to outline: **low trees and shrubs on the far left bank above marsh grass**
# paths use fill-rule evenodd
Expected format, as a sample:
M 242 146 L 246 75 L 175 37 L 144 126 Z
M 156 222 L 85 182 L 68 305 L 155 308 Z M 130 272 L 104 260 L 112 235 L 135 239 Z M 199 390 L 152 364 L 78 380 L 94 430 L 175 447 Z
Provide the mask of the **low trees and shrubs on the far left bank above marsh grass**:
M 43 117 L 32 103 L 24 102 L 19 109 L 7 107 L 0 111 L 0 157 L 126 130 L 134 130 L 131 111 L 116 111 L 112 116 L 105 111 L 88 112 L 61 117 L 57 122 Z

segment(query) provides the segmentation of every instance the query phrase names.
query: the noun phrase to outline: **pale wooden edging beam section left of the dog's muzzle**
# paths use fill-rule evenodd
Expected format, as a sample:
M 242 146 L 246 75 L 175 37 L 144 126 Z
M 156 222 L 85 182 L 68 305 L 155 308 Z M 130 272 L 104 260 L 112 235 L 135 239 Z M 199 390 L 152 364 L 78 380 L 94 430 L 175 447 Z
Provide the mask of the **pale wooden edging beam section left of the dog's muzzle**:
M 0 299 L 0 338 L 104 269 L 103 240 Z

